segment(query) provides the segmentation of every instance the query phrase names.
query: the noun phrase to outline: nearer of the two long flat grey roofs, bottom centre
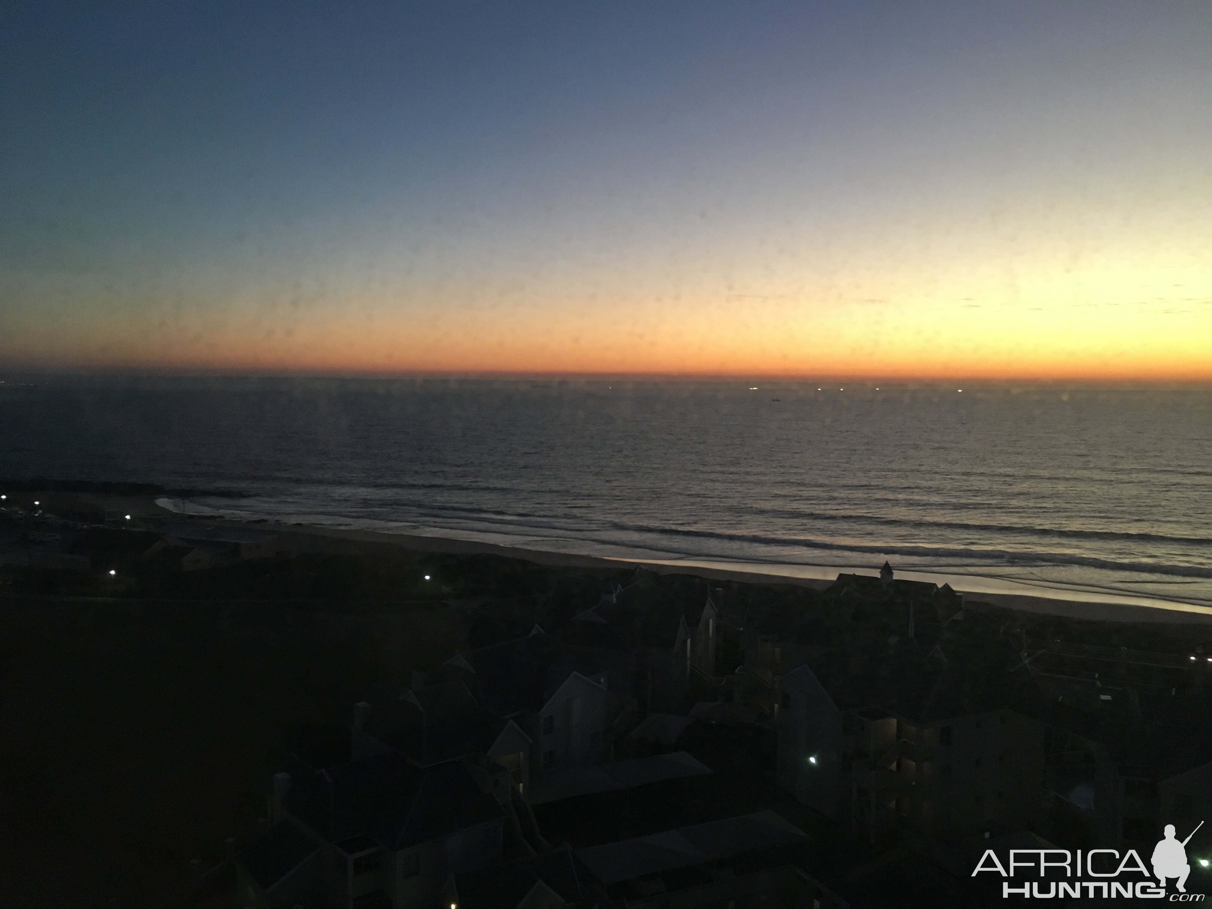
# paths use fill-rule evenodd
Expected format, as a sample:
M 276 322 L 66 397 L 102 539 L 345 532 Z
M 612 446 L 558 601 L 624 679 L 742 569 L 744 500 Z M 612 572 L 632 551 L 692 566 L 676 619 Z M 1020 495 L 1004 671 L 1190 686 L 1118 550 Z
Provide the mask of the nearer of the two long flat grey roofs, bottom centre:
M 602 884 L 634 880 L 743 852 L 801 842 L 806 834 L 773 811 L 680 827 L 650 836 L 577 850 Z

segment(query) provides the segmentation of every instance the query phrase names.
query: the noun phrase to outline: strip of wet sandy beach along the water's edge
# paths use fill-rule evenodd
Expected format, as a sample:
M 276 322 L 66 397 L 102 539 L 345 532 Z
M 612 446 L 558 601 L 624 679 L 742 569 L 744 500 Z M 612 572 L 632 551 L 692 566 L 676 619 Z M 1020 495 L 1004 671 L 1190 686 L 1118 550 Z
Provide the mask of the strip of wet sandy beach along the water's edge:
M 661 560 L 582 555 L 457 537 L 285 524 L 265 519 L 238 520 L 227 516 L 196 515 L 166 508 L 160 504 L 164 501 L 162 497 L 53 491 L 40 494 L 50 511 L 73 505 L 121 511 L 132 516 L 135 526 L 148 531 L 161 530 L 165 525 L 171 525 L 175 521 L 188 521 L 207 528 L 240 527 L 247 531 L 273 532 L 287 538 L 292 549 L 299 551 L 349 551 L 358 544 L 376 544 L 415 553 L 498 555 L 562 568 L 618 571 L 629 565 L 636 565 L 659 574 L 685 573 L 707 579 L 737 581 L 749 584 L 795 584 L 818 590 L 829 587 L 839 573 L 871 576 L 879 573 L 876 566 L 864 570 L 819 565 L 767 566 L 750 562 L 708 562 L 692 559 Z M 896 566 L 893 568 L 896 570 Z M 1212 623 L 1212 607 L 1193 604 L 1082 590 L 1058 590 L 1057 593 L 1063 595 L 1057 596 L 1041 595 L 1031 591 L 1031 588 L 1025 584 L 977 574 L 943 574 L 901 570 L 897 571 L 897 576 L 910 581 L 928 581 L 939 585 L 950 583 L 953 589 L 965 595 L 968 607 L 979 607 L 981 604 L 984 604 L 997 608 L 1100 622 Z M 1025 588 L 1025 590 L 1016 588 Z

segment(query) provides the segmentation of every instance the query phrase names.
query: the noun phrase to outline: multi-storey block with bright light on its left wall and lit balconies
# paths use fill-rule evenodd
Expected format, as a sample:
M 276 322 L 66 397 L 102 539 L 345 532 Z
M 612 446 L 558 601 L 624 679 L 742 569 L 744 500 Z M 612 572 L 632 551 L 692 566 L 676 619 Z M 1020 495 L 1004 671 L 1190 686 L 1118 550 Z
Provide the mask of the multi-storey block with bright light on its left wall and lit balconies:
M 1042 698 L 1012 647 L 966 624 L 926 653 L 913 639 L 873 640 L 783 676 L 779 785 L 871 842 L 899 831 L 941 861 L 1029 829 Z

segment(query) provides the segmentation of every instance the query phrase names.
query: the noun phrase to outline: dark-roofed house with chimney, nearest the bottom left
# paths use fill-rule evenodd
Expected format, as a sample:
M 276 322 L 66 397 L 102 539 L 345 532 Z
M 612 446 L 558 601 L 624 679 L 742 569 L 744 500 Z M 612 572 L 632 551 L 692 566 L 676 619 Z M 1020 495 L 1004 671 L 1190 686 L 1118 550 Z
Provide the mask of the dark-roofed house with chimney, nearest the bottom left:
M 296 759 L 273 783 L 271 829 L 238 856 L 245 905 L 421 909 L 450 874 L 501 862 L 505 812 L 461 761 Z

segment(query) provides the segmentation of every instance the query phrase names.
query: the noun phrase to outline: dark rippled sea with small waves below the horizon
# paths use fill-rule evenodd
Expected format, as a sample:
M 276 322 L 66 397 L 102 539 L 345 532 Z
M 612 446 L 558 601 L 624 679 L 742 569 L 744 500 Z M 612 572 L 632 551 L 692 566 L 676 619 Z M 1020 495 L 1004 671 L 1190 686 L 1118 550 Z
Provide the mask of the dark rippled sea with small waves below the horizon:
M 0 385 L 0 476 L 560 551 L 1212 605 L 1212 391 L 754 383 Z M 788 568 L 790 570 L 790 568 Z M 1027 591 L 1027 588 L 1023 588 Z

